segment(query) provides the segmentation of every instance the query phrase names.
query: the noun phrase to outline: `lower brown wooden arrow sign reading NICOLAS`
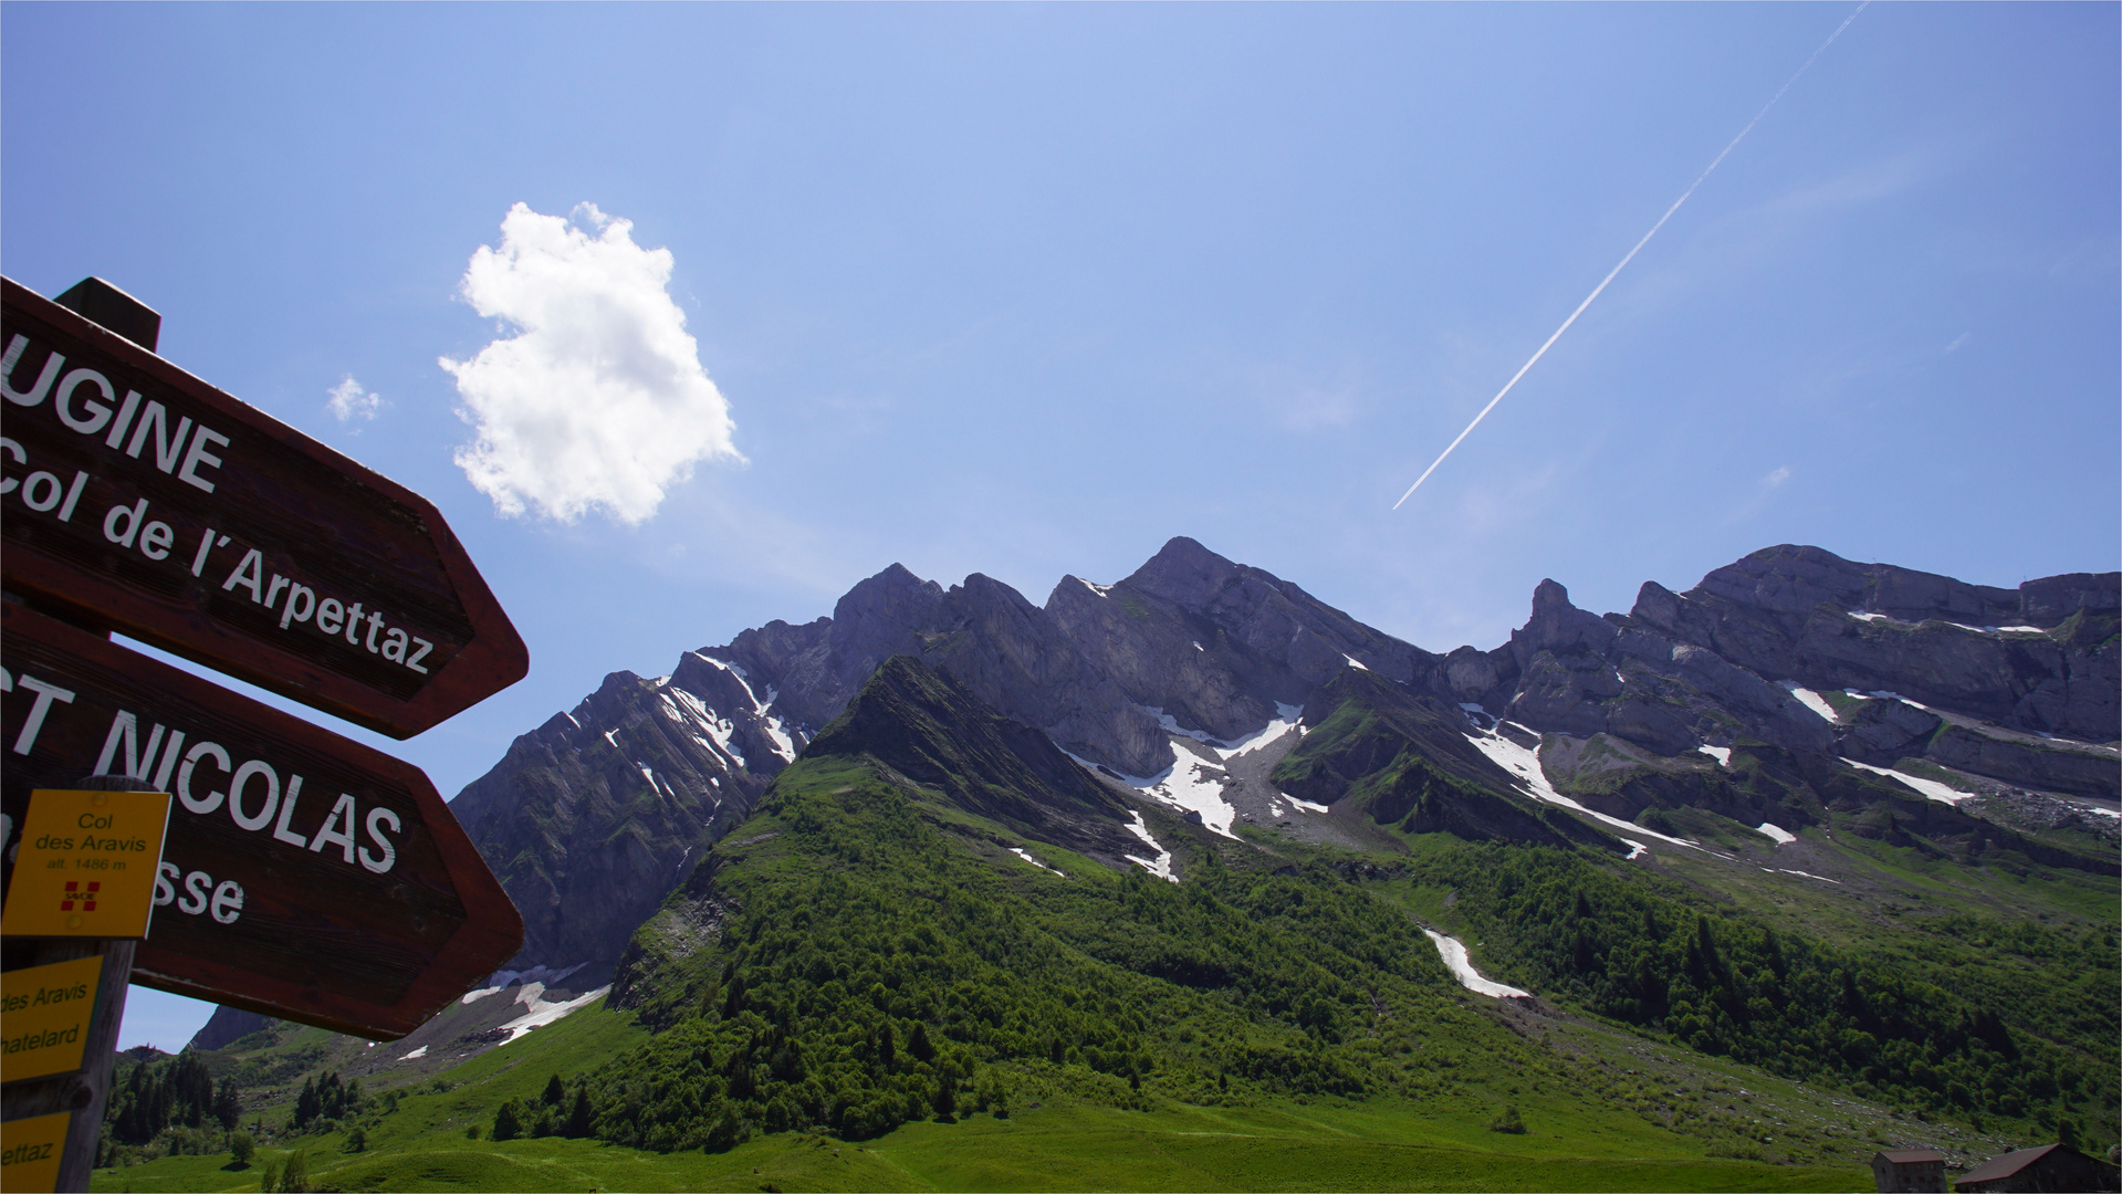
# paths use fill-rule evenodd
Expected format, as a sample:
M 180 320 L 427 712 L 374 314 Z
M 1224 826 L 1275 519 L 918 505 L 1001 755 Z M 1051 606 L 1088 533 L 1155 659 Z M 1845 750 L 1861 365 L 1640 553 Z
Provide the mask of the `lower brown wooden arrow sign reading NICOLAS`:
M 176 797 L 134 982 L 397 1039 L 522 948 L 412 763 L 15 602 L 0 689 L 11 833 L 30 791 L 89 774 Z

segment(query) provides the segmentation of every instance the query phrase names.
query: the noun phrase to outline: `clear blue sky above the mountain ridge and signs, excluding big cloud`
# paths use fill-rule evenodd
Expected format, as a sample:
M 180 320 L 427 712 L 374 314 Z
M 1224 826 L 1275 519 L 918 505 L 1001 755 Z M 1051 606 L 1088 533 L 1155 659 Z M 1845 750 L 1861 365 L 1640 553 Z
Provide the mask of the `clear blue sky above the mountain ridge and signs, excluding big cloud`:
M 2111 4 L 1863 11 L 1390 509 L 1850 11 L 17 0 L 0 269 L 441 507 L 530 677 L 348 732 L 446 795 L 891 562 L 1190 534 L 1434 651 L 1774 543 L 2116 568 Z

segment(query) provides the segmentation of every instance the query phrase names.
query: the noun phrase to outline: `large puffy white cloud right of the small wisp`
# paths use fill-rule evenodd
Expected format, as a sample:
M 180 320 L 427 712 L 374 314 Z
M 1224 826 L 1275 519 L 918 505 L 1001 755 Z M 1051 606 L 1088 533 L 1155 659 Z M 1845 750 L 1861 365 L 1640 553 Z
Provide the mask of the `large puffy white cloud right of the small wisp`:
M 477 428 L 456 467 L 497 511 L 575 522 L 603 507 L 639 524 L 696 462 L 743 462 L 730 403 L 666 291 L 671 265 L 594 204 L 567 218 L 516 204 L 501 248 L 471 254 L 465 301 L 516 335 L 441 367 Z

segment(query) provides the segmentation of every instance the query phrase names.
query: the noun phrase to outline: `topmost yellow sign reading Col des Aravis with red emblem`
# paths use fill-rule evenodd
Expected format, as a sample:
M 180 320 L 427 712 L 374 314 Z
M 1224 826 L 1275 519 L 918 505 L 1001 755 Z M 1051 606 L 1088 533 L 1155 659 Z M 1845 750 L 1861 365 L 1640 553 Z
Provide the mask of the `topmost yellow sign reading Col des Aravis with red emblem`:
M 6 884 L 8 937 L 146 937 L 170 827 L 161 791 L 30 793 Z

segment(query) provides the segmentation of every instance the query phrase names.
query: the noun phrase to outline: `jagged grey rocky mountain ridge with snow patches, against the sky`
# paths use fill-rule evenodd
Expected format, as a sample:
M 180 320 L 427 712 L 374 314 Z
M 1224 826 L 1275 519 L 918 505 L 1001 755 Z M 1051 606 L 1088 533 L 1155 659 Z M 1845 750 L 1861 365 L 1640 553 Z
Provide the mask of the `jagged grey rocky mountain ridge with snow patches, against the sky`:
M 944 590 L 893 564 L 832 617 L 745 630 L 668 677 L 613 672 L 518 738 L 454 808 L 524 912 L 511 965 L 586 973 L 611 969 L 705 848 L 895 655 L 1095 768 L 1097 800 L 1218 833 L 1250 823 L 1337 840 L 1381 812 L 1420 812 L 1466 836 L 1613 840 L 1613 823 L 1672 804 L 1757 810 L 1719 776 L 1717 755 L 1734 751 L 1819 785 L 1876 780 L 1918 812 L 1982 785 L 2111 808 L 2118 613 L 2114 573 L 1997 590 L 1785 545 L 1685 594 L 1647 583 L 1628 615 L 1575 609 L 1543 581 L 1509 643 L 1439 655 L 1190 539 L 1112 585 L 1063 577 L 1044 607 L 982 575 Z M 906 700 L 895 717 L 917 715 Z M 1352 719 L 1390 734 L 1356 734 L 1354 755 L 1284 759 L 1350 700 Z M 1504 736 L 1524 738 L 1519 755 Z M 1585 776 L 1589 744 L 1608 759 L 1604 787 Z M 1545 774 L 1524 770 L 1528 757 Z M 1865 787 L 1863 800 L 1884 797 Z M 1341 802 L 1369 817 L 1326 817 Z

